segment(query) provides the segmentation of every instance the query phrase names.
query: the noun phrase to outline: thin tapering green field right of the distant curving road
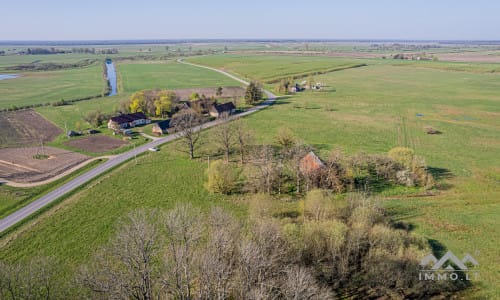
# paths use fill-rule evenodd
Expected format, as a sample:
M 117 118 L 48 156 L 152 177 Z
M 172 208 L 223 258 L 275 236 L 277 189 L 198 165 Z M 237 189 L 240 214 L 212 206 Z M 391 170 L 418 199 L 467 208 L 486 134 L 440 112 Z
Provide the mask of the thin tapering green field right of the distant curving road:
M 327 72 L 337 68 L 352 67 L 365 61 L 348 58 L 310 57 L 292 55 L 217 55 L 190 58 L 190 62 L 201 63 L 238 76 L 270 82 L 310 72 Z

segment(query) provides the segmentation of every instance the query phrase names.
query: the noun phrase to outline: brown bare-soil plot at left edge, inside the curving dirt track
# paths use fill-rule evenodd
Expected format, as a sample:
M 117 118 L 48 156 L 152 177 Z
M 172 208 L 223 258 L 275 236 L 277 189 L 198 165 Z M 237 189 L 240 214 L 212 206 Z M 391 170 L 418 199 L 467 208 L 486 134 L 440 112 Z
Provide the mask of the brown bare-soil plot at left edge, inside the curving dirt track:
M 35 159 L 36 155 L 47 155 L 48 158 Z M 42 181 L 88 158 L 83 154 L 52 147 L 3 148 L 0 149 L 0 178 L 22 183 Z

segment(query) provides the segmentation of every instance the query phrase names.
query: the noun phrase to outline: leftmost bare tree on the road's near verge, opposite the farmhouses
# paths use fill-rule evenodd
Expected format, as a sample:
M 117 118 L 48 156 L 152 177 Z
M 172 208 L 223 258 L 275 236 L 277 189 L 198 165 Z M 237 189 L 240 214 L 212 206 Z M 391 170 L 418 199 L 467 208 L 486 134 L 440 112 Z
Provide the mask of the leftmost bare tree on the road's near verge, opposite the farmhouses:
M 177 113 L 173 118 L 175 125 L 174 130 L 181 135 L 181 142 L 187 147 L 186 150 L 181 150 L 189 154 L 189 158 L 194 158 L 194 150 L 198 144 L 201 133 L 202 118 L 191 110 L 183 110 Z M 196 128 L 196 126 L 200 126 Z

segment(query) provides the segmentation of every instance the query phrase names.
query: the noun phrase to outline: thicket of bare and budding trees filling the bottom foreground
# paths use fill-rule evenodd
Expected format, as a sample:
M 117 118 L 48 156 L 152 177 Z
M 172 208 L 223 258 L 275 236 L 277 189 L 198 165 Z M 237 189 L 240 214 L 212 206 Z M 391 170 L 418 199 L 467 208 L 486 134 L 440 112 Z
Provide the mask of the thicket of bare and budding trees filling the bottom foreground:
M 0 298 L 427 299 L 466 287 L 420 281 L 428 243 L 395 229 L 376 199 L 312 190 L 294 222 L 271 217 L 270 201 L 246 222 L 189 204 L 132 212 L 70 282 L 50 259 L 0 262 Z

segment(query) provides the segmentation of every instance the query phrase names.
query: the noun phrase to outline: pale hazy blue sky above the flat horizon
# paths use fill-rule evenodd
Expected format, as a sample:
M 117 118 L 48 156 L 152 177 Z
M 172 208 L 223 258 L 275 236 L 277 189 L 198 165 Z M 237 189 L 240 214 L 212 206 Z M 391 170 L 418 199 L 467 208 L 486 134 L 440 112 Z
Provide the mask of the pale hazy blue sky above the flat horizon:
M 0 40 L 500 39 L 497 0 L 2 0 Z

